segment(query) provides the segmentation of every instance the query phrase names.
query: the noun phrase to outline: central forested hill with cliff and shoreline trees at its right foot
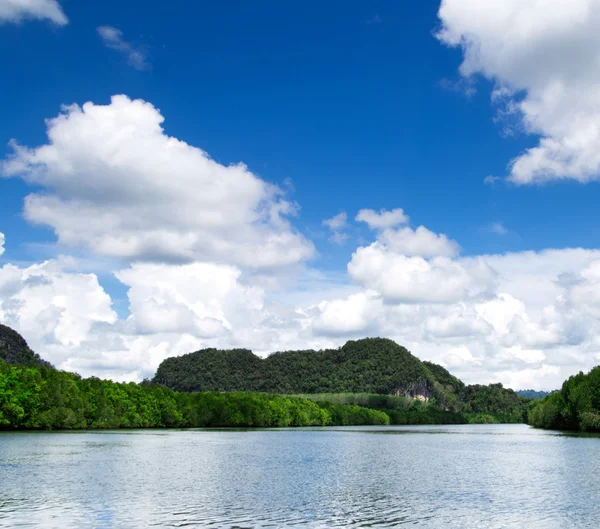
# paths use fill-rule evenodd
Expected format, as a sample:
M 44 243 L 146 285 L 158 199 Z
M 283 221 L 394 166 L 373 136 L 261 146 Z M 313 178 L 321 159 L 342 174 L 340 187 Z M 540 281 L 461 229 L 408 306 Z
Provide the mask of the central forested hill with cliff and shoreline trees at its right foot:
M 154 382 L 177 391 L 302 395 L 328 409 L 359 405 L 384 411 L 393 424 L 522 422 L 525 412 L 522 399 L 501 384 L 465 386 L 442 366 L 382 338 L 265 359 L 247 349 L 204 349 L 168 358 Z

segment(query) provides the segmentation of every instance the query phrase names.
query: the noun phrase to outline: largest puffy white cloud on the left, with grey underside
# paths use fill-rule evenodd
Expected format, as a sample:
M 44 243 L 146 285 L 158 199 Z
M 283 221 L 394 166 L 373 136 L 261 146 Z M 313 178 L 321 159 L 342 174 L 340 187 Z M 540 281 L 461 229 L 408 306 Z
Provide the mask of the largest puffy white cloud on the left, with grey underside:
M 216 261 L 248 268 L 293 265 L 314 251 L 287 216 L 295 204 L 244 164 L 224 166 L 165 134 L 151 104 L 65 107 L 49 143 L 12 143 L 2 166 L 43 188 L 25 216 L 62 245 L 131 260 Z

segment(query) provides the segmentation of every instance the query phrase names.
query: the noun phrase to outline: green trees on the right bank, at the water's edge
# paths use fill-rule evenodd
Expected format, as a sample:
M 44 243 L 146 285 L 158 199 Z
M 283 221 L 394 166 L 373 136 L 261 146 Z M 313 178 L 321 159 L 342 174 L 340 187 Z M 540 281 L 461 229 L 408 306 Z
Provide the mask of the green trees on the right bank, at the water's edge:
M 600 366 L 565 381 L 560 391 L 533 401 L 529 424 L 536 428 L 600 432 Z

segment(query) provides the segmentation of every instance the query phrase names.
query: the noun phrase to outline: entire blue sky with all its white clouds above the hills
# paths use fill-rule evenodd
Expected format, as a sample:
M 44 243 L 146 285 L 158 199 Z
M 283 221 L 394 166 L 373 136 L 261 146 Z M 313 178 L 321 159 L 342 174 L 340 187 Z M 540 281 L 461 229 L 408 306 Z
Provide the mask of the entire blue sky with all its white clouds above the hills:
M 600 363 L 600 0 L 0 0 L 0 57 L 0 322 L 57 367 Z

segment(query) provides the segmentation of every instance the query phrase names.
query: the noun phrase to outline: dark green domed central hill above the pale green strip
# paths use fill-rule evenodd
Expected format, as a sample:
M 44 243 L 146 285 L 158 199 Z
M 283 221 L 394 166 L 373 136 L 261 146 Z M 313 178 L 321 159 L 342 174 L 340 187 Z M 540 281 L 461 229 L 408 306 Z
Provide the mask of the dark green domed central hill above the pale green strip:
M 339 349 L 286 351 L 261 359 L 246 349 L 204 349 L 162 362 L 154 382 L 178 391 L 434 394 L 425 365 L 392 340 L 366 338 Z

